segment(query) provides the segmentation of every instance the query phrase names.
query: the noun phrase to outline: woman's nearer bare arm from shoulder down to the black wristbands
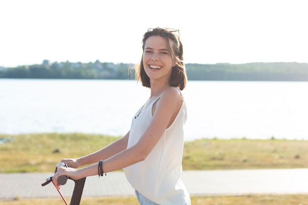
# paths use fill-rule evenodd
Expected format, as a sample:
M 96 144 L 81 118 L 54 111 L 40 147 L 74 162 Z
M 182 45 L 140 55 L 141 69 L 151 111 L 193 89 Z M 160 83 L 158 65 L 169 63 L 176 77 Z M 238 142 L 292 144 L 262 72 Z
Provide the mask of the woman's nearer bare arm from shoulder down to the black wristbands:
M 153 119 L 138 143 L 104 160 L 103 171 L 111 172 L 130 166 L 146 159 L 153 150 L 166 128 L 178 115 L 183 103 L 182 93 L 177 88 L 168 88 L 154 106 Z

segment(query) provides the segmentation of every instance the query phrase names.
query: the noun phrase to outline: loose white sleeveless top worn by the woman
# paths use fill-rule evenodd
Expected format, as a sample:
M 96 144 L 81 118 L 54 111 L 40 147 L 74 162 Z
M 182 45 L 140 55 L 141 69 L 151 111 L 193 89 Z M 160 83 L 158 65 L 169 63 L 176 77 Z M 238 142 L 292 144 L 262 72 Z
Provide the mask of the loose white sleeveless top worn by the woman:
M 151 123 L 154 103 L 144 110 L 140 108 L 136 116 L 133 117 L 127 148 L 134 146 L 139 141 Z M 131 186 L 159 205 L 185 205 L 189 200 L 189 194 L 181 180 L 183 127 L 186 118 L 186 105 L 183 99 L 177 117 L 165 130 L 147 158 L 123 169 Z

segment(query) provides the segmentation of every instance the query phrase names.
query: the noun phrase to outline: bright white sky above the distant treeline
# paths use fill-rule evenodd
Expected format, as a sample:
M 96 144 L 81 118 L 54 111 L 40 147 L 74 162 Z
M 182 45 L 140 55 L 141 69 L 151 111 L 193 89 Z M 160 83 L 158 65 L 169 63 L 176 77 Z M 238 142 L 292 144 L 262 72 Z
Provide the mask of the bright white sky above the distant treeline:
M 308 63 L 307 21 L 307 0 L 1 0 L 0 66 L 138 63 L 155 27 L 180 29 L 185 63 Z

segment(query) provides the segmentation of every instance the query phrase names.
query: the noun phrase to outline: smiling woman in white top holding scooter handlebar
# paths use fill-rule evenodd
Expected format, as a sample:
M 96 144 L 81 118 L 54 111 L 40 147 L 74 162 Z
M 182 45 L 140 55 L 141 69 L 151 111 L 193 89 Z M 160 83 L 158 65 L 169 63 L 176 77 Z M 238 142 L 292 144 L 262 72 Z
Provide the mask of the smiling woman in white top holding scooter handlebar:
M 149 29 L 142 42 L 136 78 L 151 95 L 132 118 L 130 131 L 92 154 L 62 159 L 71 168 L 59 168 L 53 180 L 60 189 L 62 175 L 79 179 L 123 169 L 141 205 L 190 205 L 181 180 L 186 121 L 181 90 L 187 78 L 179 30 Z M 88 164 L 93 165 L 76 169 Z

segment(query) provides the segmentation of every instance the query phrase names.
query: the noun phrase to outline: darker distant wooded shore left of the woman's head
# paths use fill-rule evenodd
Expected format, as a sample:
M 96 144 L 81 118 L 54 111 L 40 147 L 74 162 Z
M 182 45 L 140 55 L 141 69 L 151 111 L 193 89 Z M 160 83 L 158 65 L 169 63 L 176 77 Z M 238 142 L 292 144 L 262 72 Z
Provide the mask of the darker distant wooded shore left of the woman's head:
M 109 62 L 81 63 L 54 62 L 44 60 L 42 64 L 23 65 L 0 69 L 0 78 L 32 78 L 32 79 L 130 79 L 130 64 L 114 64 Z M 130 69 L 132 70 L 132 69 Z

